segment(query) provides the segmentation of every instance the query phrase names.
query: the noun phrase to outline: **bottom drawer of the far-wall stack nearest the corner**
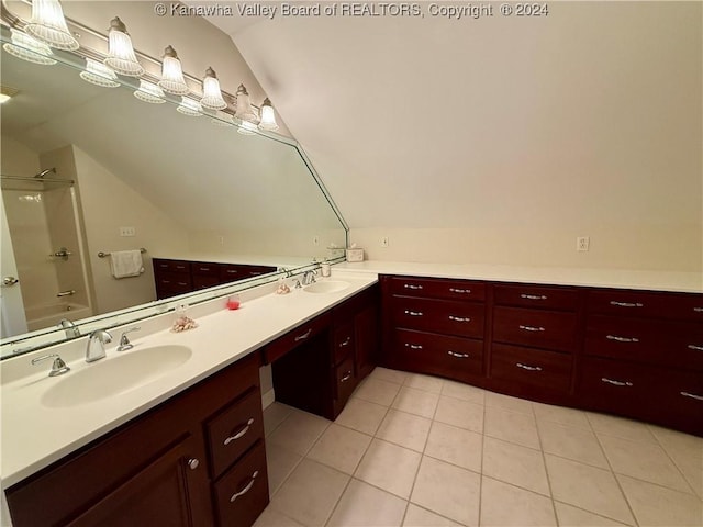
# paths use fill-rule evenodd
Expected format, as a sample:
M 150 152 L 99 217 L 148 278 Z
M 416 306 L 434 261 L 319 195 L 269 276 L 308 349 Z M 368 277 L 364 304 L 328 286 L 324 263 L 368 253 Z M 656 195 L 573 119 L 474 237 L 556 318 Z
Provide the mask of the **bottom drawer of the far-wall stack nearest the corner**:
M 395 329 L 394 360 L 423 373 L 461 379 L 483 372 L 483 341 L 434 333 Z

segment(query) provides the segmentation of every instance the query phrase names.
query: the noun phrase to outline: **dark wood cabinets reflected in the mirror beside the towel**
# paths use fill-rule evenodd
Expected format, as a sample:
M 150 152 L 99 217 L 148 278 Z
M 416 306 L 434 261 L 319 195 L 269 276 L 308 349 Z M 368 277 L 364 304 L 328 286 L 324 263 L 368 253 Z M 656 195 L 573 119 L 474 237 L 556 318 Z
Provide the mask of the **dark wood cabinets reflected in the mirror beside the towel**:
M 170 260 L 166 258 L 154 258 L 153 266 L 156 298 L 158 300 L 276 271 L 276 267 L 272 266 Z

